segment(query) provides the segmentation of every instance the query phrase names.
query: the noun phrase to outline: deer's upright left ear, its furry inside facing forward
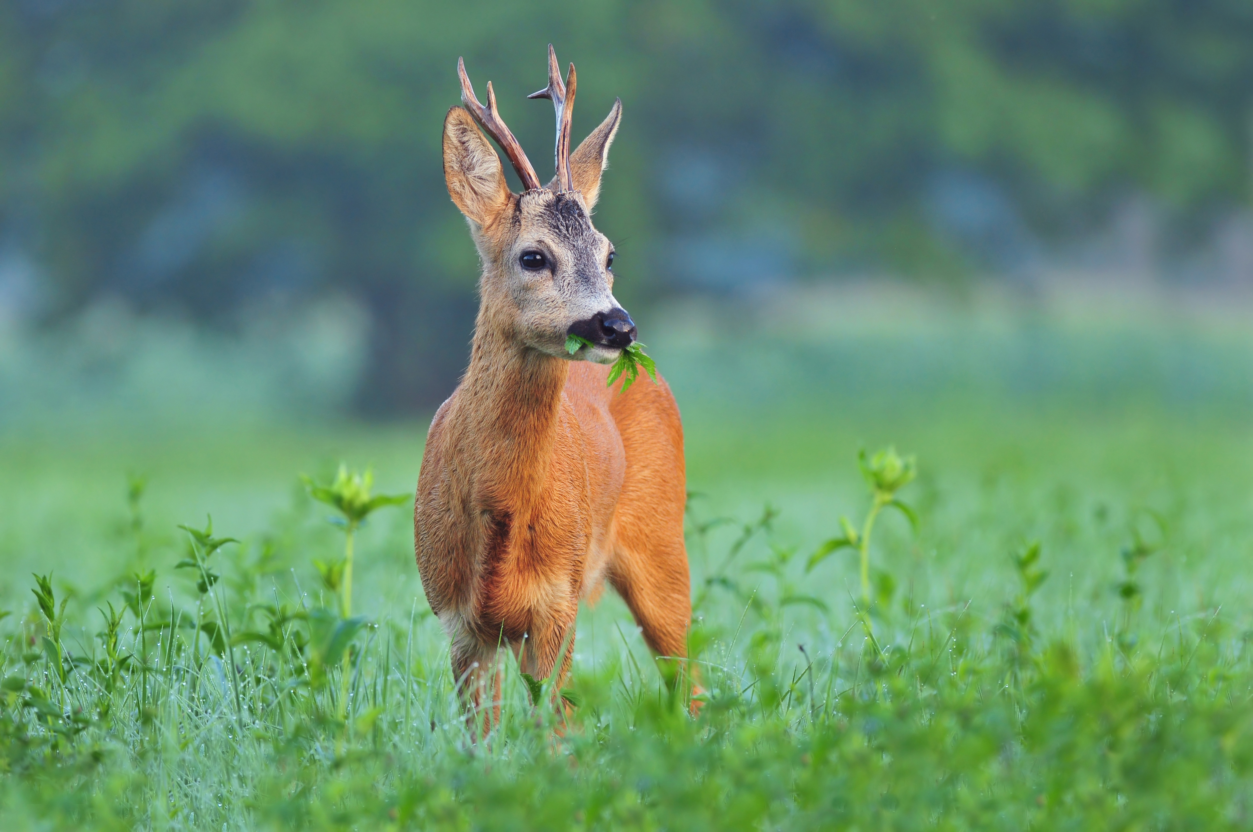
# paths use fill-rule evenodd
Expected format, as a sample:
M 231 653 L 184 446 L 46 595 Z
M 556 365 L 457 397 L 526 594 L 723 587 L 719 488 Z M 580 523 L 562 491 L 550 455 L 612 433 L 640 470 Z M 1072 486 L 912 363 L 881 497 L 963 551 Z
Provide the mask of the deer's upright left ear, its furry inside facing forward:
M 509 204 L 500 157 L 461 107 L 450 109 L 444 119 L 444 180 L 461 213 L 480 226 Z

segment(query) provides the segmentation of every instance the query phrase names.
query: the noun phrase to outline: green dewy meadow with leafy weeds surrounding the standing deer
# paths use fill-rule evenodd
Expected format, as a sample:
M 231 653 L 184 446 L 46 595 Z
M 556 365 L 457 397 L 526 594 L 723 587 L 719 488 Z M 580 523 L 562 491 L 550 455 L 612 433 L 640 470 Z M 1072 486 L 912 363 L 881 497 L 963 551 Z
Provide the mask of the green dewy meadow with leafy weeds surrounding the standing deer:
M 606 591 L 569 715 L 507 667 L 472 742 L 403 505 L 356 530 L 345 608 L 347 529 L 301 475 L 411 494 L 425 422 L 10 425 L 0 823 L 1253 826 L 1243 327 L 890 306 L 645 338 L 687 430 L 698 718 Z M 888 447 L 916 477 L 866 475 Z M 908 511 L 863 596 L 876 484 Z

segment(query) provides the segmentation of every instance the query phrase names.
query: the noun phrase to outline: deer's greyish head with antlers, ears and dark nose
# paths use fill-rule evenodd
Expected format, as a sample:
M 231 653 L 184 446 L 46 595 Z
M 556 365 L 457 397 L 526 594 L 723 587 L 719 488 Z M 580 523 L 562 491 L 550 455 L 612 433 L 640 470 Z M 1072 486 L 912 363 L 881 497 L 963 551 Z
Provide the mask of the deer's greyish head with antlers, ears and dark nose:
M 621 101 L 571 153 L 574 64 L 563 83 L 549 46 L 549 85 L 530 96 L 549 98 L 556 109 L 556 175 L 545 187 L 500 119 L 491 83 L 484 107 L 460 59 L 457 73 L 465 107 L 454 107 L 444 119 L 444 178 L 484 263 L 480 321 L 515 342 L 560 357 L 569 357 L 565 342 L 576 335 L 591 346 L 581 347 L 575 358 L 613 362 L 635 340 L 635 325 L 614 298 L 614 247 L 591 224 L 591 209 Z M 479 127 L 509 157 L 523 193 L 509 190 L 500 158 Z

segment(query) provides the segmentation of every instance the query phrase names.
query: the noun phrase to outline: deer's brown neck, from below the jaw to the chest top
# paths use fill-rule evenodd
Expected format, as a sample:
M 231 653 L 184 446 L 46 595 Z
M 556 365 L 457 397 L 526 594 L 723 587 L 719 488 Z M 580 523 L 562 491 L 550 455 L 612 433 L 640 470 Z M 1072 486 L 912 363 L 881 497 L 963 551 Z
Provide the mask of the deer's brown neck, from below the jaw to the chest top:
M 470 367 L 461 382 L 475 457 L 476 491 L 512 511 L 539 499 L 549 471 L 565 361 L 525 347 L 482 318 L 475 328 Z

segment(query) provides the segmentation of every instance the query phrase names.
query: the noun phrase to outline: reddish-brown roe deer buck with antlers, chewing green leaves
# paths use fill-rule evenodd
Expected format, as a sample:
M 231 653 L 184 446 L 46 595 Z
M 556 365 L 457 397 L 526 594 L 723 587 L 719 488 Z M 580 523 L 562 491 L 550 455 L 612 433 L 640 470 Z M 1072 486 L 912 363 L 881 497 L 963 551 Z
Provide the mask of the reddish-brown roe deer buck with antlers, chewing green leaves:
M 595 603 L 605 581 L 649 649 L 687 672 L 687 485 L 683 425 L 665 380 L 606 383 L 608 365 L 637 338 L 613 294 L 614 246 L 591 223 L 621 99 L 571 152 L 575 69 L 563 81 L 549 45 L 548 86 L 528 96 L 550 99 L 556 112 L 556 174 L 544 185 L 500 118 L 491 83 L 485 107 L 460 58 L 457 76 L 444 177 L 481 261 L 480 306 L 469 366 L 427 432 L 413 536 L 459 695 L 469 713 L 487 712 L 490 728 L 505 648 L 521 672 L 555 678 L 549 695 L 566 707 L 558 690 L 579 601 Z M 510 190 L 484 132 L 521 193 Z M 571 335 L 581 338 L 573 355 Z

